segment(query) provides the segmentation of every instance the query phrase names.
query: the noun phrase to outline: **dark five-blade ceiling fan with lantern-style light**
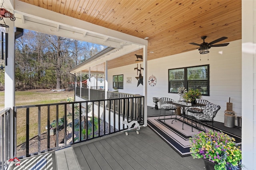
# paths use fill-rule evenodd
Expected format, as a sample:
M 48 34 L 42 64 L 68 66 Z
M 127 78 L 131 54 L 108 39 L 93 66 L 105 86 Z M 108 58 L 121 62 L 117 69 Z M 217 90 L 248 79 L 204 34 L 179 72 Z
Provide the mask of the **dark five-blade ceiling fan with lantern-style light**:
M 204 41 L 206 39 L 207 36 L 202 36 L 201 39 Z M 214 43 L 217 43 L 217 42 L 220 42 L 220 41 L 223 41 L 223 40 L 226 40 L 227 37 L 221 37 L 217 40 L 214 40 L 210 43 L 207 43 L 207 42 L 203 42 L 201 44 L 198 44 L 198 43 L 190 43 L 192 45 L 198 45 L 200 46 L 198 48 L 198 50 L 200 51 L 200 54 L 206 54 L 206 53 L 209 53 L 209 48 L 211 47 L 224 47 L 224 46 L 227 46 L 229 43 L 221 43 L 221 44 L 214 44 Z

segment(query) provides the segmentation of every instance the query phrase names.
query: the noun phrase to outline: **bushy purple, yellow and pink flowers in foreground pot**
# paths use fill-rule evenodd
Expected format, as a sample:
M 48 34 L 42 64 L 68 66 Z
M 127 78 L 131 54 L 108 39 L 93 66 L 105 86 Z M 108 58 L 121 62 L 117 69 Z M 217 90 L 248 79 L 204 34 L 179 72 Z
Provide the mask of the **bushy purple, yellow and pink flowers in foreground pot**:
M 242 167 L 240 146 L 223 132 L 198 132 L 190 138 L 193 158 L 203 158 L 206 170 L 239 170 Z M 212 168 L 209 164 L 213 164 Z

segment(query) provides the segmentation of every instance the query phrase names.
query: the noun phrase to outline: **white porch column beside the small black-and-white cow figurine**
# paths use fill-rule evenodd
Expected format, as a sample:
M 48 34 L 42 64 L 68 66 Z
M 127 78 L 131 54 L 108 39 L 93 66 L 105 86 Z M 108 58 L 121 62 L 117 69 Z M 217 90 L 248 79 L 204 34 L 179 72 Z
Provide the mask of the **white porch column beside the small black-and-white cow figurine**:
M 143 47 L 143 95 L 144 95 L 144 126 L 147 126 L 147 117 L 148 117 L 148 46 L 144 45 Z

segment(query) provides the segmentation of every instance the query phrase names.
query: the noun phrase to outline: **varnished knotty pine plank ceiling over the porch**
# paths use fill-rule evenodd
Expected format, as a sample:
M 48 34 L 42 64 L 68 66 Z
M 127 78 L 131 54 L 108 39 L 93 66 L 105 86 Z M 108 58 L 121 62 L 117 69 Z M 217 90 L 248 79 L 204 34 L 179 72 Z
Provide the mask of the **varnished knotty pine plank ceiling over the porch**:
M 242 38 L 241 0 L 20 1 L 139 38 L 148 37 L 148 60 L 195 50 L 197 46 L 189 43 L 202 43 L 202 36 L 207 36 L 206 42 L 228 37 L 219 43 Z M 108 68 L 135 63 L 134 54 L 139 52 L 143 50 L 109 61 Z

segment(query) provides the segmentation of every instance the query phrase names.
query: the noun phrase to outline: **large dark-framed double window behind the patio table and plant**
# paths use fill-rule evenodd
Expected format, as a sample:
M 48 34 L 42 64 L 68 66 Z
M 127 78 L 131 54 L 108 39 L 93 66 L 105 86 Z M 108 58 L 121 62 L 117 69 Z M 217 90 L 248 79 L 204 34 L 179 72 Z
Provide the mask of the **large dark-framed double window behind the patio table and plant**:
M 199 89 L 209 96 L 209 65 L 168 69 L 168 93 L 178 93 L 179 87 Z

